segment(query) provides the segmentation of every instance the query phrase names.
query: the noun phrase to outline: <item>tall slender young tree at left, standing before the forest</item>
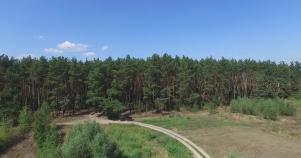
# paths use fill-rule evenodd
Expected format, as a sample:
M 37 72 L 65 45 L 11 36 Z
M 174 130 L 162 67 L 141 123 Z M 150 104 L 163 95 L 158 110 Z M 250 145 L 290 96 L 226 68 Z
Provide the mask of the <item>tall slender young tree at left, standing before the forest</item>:
M 33 121 L 33 139 L 38 147 L 42 147 L 46 140 L 48 131 L 50 130 L 51 109 L 43 103 L 41 108 L 35 112 Z

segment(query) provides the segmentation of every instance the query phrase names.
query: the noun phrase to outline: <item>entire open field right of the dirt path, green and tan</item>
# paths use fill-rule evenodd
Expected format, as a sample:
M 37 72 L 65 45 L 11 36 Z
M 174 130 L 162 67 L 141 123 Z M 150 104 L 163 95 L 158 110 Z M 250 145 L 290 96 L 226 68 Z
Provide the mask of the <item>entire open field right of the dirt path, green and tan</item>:
M 230 151 L 238 151 L 243 158 L 301 158 L 300 112 L 272 121 L 228 111 L 220 108 L 213 115 L 178 113 L 139 121 L 186 136 L 212 158 L 227 158 Z

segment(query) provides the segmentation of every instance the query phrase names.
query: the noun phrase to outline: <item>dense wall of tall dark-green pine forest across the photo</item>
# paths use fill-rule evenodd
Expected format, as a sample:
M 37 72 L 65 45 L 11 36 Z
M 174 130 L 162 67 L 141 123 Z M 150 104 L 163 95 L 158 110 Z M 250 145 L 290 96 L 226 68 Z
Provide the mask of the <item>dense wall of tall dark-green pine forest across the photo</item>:
M 229 104 L 240 97 L 300 98 L 300 87 L 298 61 L 194 60 L 168 54 L 92 61 L 0 56 L 2 117 L 16 116 L 22 106 L 33 113 L 44 101 L 63 115 L 86 108 L 109 116 L 125 109 L 200 109 L 213 100 Z

